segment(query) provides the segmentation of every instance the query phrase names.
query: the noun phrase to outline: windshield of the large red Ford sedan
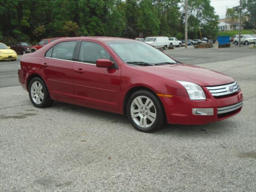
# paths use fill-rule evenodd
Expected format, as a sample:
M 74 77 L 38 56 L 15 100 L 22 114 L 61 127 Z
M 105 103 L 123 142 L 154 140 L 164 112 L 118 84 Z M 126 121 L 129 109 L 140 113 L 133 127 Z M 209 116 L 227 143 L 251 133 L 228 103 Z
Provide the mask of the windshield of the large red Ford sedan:
M 158 63 L 176 63 L 172 58 L 143 42 L 118 40 L 107 41 L 110 48 L 124 61 L 124 62 L 145 62 L 150 64 Z

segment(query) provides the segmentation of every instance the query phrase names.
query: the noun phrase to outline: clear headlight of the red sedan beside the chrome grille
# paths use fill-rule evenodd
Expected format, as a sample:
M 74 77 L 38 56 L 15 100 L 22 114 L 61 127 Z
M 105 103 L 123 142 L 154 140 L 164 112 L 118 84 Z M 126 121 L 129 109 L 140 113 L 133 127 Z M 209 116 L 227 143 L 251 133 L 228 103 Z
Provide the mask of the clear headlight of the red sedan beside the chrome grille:
M 188 92 L 188 96 L 191 100 L 204 100 L 206 99 L 206 96 L 204 94 L 204 91 L 202 90 L 202 88 L 195 83 L 192 82 L 187 82 L 187 81 L 177 81 L 180 84 L 182 84 L 187 92 Z

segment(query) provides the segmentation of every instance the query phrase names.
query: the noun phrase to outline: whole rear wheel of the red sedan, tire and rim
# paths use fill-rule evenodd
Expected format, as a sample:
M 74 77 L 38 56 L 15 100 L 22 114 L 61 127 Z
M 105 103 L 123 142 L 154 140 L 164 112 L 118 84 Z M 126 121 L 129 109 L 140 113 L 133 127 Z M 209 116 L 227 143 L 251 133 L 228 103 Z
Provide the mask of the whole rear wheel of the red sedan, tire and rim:
M 38 77 L 35 77 L 30 81 L 28 93 L 30 101 L 37 108 L 49 107 L 54 102 L 50 98 L 46 84 Z

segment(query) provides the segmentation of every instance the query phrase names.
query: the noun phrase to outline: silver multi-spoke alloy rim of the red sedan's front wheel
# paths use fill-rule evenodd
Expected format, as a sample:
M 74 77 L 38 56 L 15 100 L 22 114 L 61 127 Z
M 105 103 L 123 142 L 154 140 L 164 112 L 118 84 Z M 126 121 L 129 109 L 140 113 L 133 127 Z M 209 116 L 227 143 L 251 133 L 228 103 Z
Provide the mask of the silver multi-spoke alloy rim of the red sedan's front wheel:
M 140 127 L 148 128 L 156 121 L 156 107 L 146 96 L 136 97 L 131 104 L 132 120 Z

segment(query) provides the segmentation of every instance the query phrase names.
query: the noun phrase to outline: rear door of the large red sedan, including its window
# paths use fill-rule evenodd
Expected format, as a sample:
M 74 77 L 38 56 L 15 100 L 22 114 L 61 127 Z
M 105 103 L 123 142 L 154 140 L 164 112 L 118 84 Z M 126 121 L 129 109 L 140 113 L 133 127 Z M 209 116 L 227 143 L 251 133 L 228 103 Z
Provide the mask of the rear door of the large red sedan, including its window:
M 74 100 L 73 56 L 77 41 L 60 42 L 40 61 L 51 96 Z

